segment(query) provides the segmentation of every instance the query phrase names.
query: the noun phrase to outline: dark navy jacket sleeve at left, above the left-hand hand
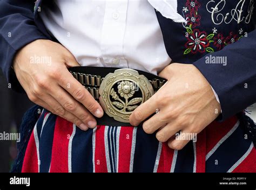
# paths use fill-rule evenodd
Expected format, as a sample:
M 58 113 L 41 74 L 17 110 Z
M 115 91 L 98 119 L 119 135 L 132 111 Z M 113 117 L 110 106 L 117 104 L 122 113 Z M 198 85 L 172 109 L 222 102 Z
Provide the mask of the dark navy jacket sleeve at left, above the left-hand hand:
M 0 67 L 11 88 L 22 91 L 11 68 L 17 51 L 36 39 L 48 39 L 35 25 L 35 0 L 0 0 Z

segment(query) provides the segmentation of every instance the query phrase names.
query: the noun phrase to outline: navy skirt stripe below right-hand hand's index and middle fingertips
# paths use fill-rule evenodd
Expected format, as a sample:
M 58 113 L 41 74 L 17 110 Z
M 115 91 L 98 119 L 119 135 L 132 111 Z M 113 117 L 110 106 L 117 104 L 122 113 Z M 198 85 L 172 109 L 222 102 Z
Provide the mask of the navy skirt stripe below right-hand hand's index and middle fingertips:
M 132 137 L 130 137 L 132 138 Z M 146 134 L 142 127 L 137 128 L 133 172 L 153 172 L 156 163 L 159 141 L 156 134 Z

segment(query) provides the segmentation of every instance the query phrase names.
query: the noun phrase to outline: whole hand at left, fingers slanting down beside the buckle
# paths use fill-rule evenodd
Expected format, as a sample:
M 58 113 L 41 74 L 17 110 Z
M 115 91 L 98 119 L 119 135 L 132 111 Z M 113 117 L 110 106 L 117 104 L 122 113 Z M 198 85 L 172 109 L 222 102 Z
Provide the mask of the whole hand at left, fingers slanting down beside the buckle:
M 103 109 L 68 71 L 72 66 L 79 64 L 71 52 L 45 39 L 24 46 L 13 64 L 17 79 L 31 101 L 82 130 L 94 128 L 97 123 L 93 116 L 102 117 Z

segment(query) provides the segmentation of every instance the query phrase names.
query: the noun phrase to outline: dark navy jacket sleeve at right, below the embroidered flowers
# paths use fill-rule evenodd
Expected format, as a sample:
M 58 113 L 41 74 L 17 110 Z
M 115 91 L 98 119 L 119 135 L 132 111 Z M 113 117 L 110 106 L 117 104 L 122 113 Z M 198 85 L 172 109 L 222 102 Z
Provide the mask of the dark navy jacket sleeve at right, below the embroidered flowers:
M 226 64 L 206 64 L 210 56 L 224 56 Z M 222 113 L 217 120 L 225 120 L 256 102 L 256 30 L 193 64 L 218 94 Z

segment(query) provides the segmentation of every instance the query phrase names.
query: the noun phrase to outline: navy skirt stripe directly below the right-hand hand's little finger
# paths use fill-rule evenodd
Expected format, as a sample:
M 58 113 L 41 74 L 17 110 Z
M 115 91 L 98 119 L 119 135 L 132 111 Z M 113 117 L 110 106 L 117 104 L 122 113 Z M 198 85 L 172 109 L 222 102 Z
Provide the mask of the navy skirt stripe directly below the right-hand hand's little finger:
M 191 140 L 188 144 L 178 151 L 174 172 L 193 172 L 194 166 L 194 147 Z

